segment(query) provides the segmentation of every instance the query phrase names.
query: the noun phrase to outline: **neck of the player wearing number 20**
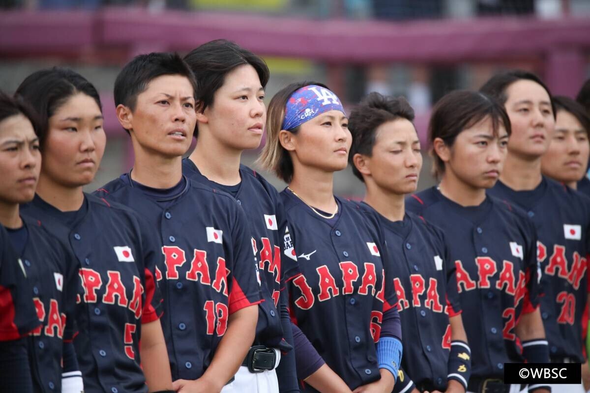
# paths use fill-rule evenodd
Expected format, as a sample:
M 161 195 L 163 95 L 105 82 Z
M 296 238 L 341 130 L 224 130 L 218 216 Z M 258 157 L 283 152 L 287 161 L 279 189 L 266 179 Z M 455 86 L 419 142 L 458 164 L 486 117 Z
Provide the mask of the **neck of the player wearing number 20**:
M 534 190 L 543 180 L 541 158 L 533 160 L 508 153 L 500 181 L 514 191 Z

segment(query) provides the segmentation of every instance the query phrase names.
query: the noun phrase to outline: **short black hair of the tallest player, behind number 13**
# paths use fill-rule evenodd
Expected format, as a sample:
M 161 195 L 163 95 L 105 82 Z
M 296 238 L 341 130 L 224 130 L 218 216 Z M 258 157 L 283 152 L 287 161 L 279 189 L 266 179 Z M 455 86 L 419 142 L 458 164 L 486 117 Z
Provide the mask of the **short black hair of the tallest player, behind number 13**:
M 184 60 L 191 67 L 197 80 L 196 108 L 201 113 L 213 104 L 215 92 L 224 84 L 225 75 L 234 68 L 250 64 L 258 74 L 263 88 L 266 88 L 270 78 L 268 66 L 260 56 L 227 39 L 206 42 L 192 49 Z M 196 129 L 194 136 L 198 136 Z

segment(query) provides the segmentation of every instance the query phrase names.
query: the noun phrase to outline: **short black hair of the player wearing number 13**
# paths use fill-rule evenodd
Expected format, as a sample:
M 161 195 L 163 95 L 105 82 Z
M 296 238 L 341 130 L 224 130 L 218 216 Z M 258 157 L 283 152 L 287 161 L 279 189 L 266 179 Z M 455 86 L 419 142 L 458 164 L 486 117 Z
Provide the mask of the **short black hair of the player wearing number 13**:
M 152 52 L 137 55 L 128 62 L 114 82 L 114 104 L 123 104 L 133 112 L 137 95 L 148 88 L 149 82 L 162 75 L 182 75 L 191 82 L 196 99 L 196 81 L 191 68 L 176 53 Z

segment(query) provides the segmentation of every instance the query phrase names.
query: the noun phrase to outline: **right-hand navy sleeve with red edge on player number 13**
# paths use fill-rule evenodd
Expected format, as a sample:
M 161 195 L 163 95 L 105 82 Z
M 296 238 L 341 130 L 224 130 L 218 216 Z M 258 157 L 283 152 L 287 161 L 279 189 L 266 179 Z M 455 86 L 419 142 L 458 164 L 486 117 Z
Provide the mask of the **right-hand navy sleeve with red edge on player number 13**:
M 237 205 L 236 205 L 237 206 Z M 235 209 L 235 220 L 230 223 L 231 247 L 233 260 L 228 282 L 230 284 L 230 315 L 242 308 L 260 303 L 260 273 L 252 255 L 251 235 L 248 232 L 247 219 L 242 209 Z

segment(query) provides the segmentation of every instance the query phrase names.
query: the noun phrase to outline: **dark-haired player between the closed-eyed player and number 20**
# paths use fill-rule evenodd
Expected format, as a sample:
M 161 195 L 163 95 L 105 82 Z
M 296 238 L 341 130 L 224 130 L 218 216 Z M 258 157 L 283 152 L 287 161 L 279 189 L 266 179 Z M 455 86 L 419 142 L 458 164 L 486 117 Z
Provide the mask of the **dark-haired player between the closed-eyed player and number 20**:
M 471 346 L 469 392 L 519 392 L 520 385 L 504 385 L 504 363 L 549 361 L 537 306 L 535 228 L 517 208 L 486 196 L 502 173 L 509 136 L 510 121 L 496 101 L 471 91 L 445 95 L 428 126 L 440 184 L 406 200 L 408 210 L 443 230 L 455 264 Z

